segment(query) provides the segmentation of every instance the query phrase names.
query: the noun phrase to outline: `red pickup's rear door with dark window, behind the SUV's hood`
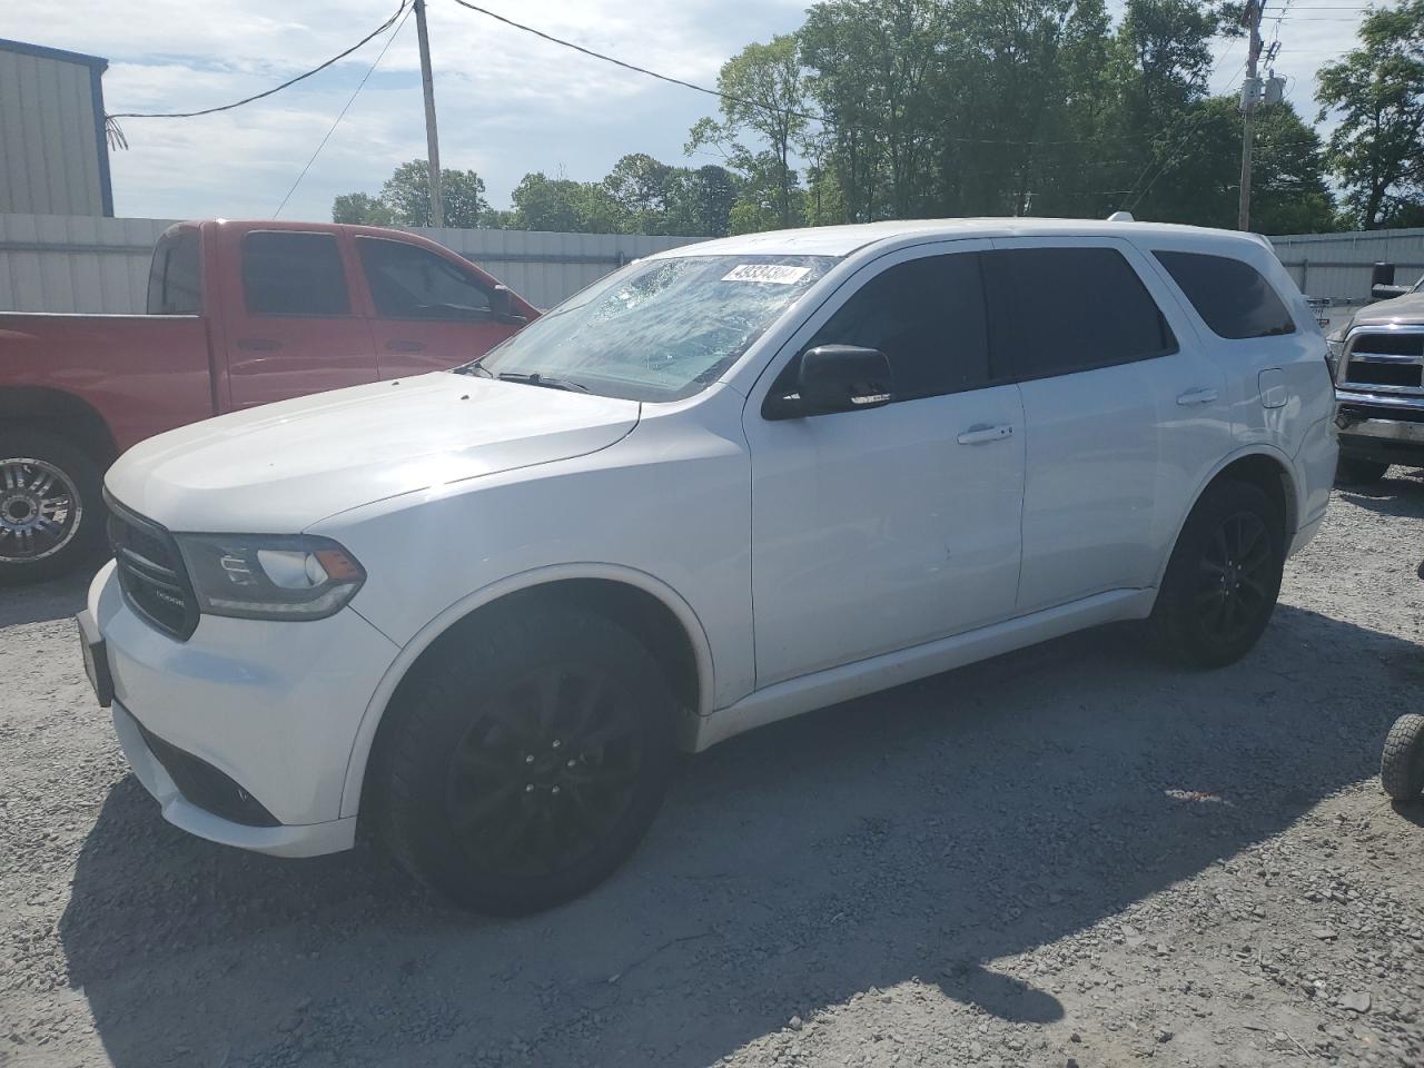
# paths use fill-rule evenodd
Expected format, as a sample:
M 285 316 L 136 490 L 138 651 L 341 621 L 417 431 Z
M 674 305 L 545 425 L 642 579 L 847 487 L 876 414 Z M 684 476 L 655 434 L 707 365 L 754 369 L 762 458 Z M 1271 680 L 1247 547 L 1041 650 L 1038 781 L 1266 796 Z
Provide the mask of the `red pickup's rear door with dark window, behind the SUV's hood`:
M 228 406 L 376 382 L 370 328 L 352 299 L 359 266 L 336 234 L 215 232 L 216 263 L 229 273 L 221 286 Z

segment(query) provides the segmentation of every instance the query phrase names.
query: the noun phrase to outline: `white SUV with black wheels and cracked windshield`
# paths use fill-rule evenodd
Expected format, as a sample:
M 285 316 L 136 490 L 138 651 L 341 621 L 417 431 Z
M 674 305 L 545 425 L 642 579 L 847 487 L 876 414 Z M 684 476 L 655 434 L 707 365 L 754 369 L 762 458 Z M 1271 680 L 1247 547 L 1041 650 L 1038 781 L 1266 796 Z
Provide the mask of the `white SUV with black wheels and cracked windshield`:
M 980 219 L 758 234 L 454 372 L 108 473 L 87 661 L 164 816 L 373 829 L 456 900 L 607 877 L 678 749 L 1115 619 L 1242 656 L 1336 466 L 1260 238 Z

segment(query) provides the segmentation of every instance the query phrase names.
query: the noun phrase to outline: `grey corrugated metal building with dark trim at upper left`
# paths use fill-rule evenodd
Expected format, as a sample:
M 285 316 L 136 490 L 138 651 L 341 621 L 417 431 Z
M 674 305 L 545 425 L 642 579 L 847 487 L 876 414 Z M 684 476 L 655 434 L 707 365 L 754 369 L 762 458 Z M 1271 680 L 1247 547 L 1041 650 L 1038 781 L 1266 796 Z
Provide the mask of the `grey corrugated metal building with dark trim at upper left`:
M 0 38 L 0 212 L 112 215 L 108 60 Z

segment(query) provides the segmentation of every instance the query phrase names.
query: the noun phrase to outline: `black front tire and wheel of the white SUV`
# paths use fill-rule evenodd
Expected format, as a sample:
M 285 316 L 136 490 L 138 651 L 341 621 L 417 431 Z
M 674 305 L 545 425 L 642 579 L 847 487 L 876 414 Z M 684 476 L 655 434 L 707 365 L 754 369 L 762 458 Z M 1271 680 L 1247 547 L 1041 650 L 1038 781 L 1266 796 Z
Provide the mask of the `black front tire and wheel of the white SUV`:
M 634 852 L 675 763 L 676 702 L 627 629 L 531 604 L 419 665 L 387 715 L 379 834 L 457 904 L 497 916 L 592 889 Z

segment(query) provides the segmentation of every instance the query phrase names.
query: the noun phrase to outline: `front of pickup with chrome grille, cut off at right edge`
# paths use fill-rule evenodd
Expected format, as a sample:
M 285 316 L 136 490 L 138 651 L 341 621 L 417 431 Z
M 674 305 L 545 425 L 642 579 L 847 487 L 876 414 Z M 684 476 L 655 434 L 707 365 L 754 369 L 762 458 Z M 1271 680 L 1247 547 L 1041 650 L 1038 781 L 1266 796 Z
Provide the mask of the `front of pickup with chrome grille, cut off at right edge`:
M 1378 303 L 1330 335 L 1340 481 L 1363 486 L 1391 464 L 1424 466 L 1424 278 L 1374 286 Z

